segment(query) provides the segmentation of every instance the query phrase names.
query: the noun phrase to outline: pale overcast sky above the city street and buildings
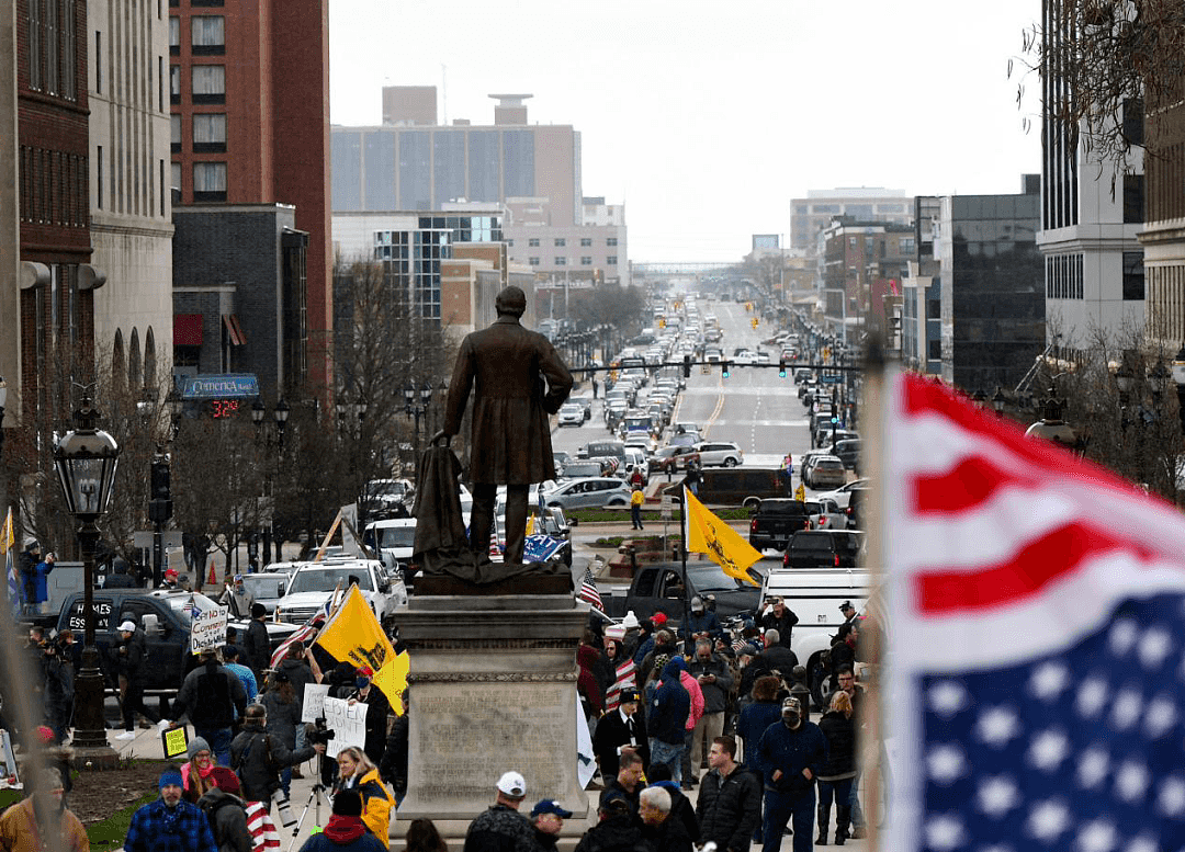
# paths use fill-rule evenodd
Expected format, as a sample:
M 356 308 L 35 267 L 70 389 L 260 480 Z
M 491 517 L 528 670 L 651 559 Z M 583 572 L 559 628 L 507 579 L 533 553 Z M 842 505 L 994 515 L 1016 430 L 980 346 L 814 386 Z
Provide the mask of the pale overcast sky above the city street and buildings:
M 442 117 L 493 123 L 488 94 L 532 92 L 531 123 L 582 133 L 584 194 L 626 204 L 632 261 L 728 262 L 752 233 L 788 239 L 808 190 L 1017 192 L 1040 169 L 1040 84 L 1019 72 L 1039 13 L 1039 0 L 331 0 L 331 114 L 377 124 L 384 85 L 436 85 Z

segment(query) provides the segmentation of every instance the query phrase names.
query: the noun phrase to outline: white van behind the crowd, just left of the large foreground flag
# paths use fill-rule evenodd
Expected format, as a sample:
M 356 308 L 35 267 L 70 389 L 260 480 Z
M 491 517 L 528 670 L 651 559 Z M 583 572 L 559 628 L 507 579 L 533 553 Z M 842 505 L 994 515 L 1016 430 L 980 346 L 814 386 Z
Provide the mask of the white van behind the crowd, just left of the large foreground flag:
M 871 594 L 872 577 L 863 569 L 774 569 L 762 584 L 758 613 L 768 610 L 770 597 L 781 597 L 786 608 L 799 616 L 790 649 L 807 667 L 807 684 L 816 704 L 822 703 L 824 680 L 830 674 L 822 667 L 822 654 L 844 623 L 839 604 L 851 601 L 863 613 Z

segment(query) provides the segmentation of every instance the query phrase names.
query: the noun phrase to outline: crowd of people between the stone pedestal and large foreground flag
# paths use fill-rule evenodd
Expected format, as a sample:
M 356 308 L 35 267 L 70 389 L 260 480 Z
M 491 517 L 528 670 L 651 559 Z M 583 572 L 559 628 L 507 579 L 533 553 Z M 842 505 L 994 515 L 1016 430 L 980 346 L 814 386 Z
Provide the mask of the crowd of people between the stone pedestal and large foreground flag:
M 731 852 L 751 844 L 775 852 L 789 833 L 795 852 L 806 852 L 864 837 L 860 623 L 850 602 L 840 609 L 818 723 L 809 692 L 795 688 L 798 616 L 784 601 L 769 601 L 739 636 L 725 634 L 698 598 L 679 632 L 656 614 L 587 633 L 577 686 L 602 790 L 600 822 L 582 846 L 686 852 L 711 840 Z

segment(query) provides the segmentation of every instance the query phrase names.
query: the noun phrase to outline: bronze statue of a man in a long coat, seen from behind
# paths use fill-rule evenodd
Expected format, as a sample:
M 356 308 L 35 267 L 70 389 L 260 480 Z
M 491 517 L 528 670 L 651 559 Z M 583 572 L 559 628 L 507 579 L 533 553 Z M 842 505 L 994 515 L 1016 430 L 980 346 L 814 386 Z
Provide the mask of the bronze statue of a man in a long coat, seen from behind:
M 523 563 L 526 545 L 526 498 L 533 482 L 555 479 L 549 415 L 559 411 L 572 389 L 572 374 L 551 341 L 521 326 L 526 295 L 507 287 L 494 300 L 498 319 L 467 334 L 456 355 L 444 406 L 444 428 L 436 437 L 456 435 L 474 391 L 469 476 L 473 512 L 469 544 L 489 551 L 498 486 L 506 486 L 507 564 Z M 434 438 L 435 441 L 435 438 Z

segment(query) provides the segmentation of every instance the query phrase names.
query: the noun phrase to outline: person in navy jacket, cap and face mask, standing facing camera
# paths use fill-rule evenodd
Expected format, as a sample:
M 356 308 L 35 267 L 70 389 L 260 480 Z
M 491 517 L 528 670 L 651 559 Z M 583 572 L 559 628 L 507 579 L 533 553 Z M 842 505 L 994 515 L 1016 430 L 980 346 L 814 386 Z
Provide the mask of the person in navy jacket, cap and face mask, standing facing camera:
M 793 821 L 794 852 L 811 852 L 814 838 L 815 779 L 827 763 L 827 739 L 806 719 L 798 698 L 782 702 L 782 719 L 761 735 L 757 752 L 766 771 L 762 852 L 779 852 L 782 831 Z

